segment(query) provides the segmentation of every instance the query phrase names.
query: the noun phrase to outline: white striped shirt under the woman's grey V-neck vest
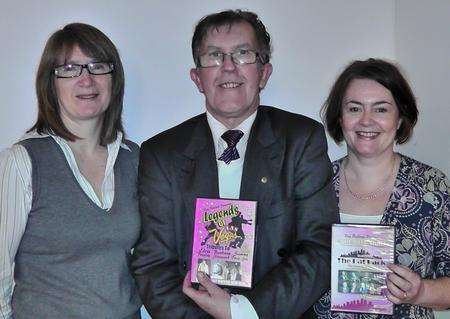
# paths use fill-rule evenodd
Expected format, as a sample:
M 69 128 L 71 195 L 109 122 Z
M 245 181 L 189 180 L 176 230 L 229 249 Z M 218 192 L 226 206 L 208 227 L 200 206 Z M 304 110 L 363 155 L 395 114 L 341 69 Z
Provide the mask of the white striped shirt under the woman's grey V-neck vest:
M 42 138 L 49 135 L 25 134 L 21 140 Z M 122 147 L 122 133 L 107 146 L 108 158 L 101 187 L 102 199 L 81 174 L 75 156 L 67 142 L 50 135 L 61 148 L 77 182 L 86 195 L 100 208 L 109 211 L 114 200 L 114 163 Z M 28 220 L 33 200 L 31 159 L 26 149 L 18 144 L 0 153 L 0 318 L 11 318 L 11 297 L 14 288 L 14 259 Z

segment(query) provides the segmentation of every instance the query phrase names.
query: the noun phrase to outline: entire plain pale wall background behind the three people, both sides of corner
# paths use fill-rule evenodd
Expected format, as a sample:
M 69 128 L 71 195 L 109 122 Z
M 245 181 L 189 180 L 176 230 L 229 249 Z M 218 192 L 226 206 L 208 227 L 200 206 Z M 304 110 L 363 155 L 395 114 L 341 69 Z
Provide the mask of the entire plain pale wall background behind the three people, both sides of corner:
M 351 60 L 400 64 L 419 104 L 412 140 L 399 151 L 450 173 L 450 1 L 0 0 L 0 150 L 36 118 L 34 77 L 45 41 L 70 22 L 92 24 L 124 63 L 124 122 L 138 143 L 194 116 L 204 101 L 189 78 L 190 40 L 204 15 L 258 13 L 273 38 L 274 72 L 262 103 L 319 120 L 336 76 Z M 329 140 L 331 159 L 345 147 Z M 440 318 L 450 318 L 441 315 Z

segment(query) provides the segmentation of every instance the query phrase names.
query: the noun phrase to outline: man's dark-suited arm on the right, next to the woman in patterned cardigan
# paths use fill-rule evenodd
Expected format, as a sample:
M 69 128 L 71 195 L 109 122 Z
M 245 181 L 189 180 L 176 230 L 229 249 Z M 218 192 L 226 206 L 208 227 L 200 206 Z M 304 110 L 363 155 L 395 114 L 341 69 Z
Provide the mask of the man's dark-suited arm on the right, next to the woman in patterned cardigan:
M 261 319 L 298 318 L 329 288 L 331 224 L 339 221 L 338 208 L 324 131 L 316 126 L 309 133 L 290 154 L 295 163 L 286 173 L 293 176 L 293 248 L 247 294 Z

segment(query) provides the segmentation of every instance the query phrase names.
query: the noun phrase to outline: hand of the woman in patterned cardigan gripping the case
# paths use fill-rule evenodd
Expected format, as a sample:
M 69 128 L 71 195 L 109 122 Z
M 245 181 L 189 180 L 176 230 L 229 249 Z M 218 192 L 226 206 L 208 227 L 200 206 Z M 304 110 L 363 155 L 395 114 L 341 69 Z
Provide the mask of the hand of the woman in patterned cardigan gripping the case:
M 387 298 L 394 304 L 420 304 L 420 299 L 424 292 L 422 278 L 411 269 L 389 264 L 388 268 L 392 273 L 386 280 L 388 293 Z

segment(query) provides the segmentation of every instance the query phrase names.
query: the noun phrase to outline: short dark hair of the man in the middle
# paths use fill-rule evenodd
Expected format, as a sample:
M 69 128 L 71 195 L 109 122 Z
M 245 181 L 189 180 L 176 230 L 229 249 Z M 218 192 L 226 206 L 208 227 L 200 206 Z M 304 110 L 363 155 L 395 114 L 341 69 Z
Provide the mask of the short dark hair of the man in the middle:
M 208 32 L 223 26 L 231 28 L 234 24 L 247 22 L 255 32 L 258 53 L 262 64 L 268 63 L 271 56 L 270 34 L 256 13 L 244 10 L 227 10 L 203 17 L 195 27 L 192 37 L 192 56 L 197 66 L 200 65 L 199 53 Z

